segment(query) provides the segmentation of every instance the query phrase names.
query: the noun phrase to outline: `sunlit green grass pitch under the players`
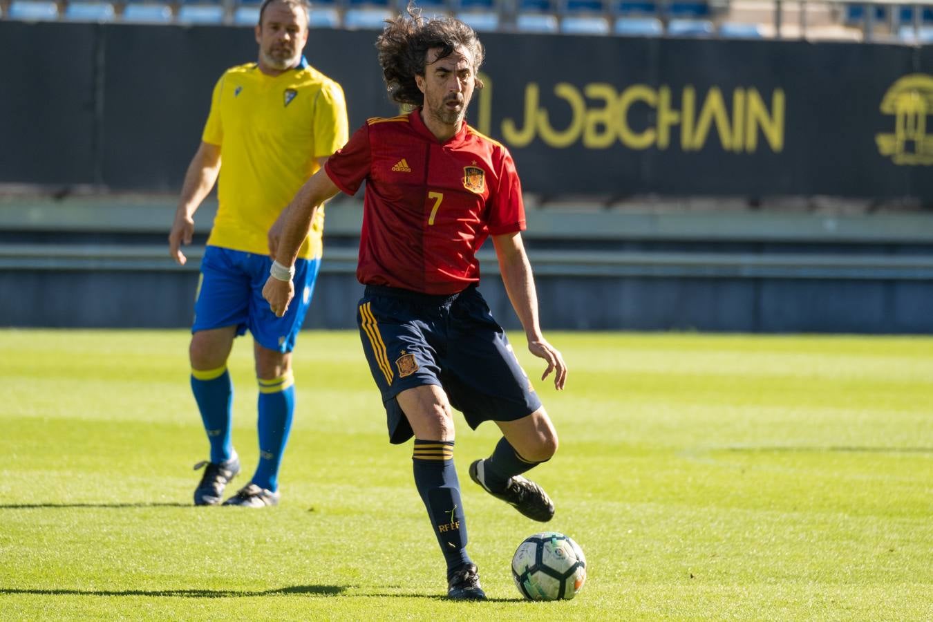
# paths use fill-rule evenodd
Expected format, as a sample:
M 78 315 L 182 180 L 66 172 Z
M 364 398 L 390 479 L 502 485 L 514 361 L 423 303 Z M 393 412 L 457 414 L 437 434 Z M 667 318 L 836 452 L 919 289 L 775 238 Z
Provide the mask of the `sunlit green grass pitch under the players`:
M 207 449 L 186 331 L 0 331 L 0 619 L 933 619 L 933 339 L 549 337 L 568 386 L 536 388 L 562 445 L 532 477 L 557 514 L 470 482 L 498 435 L 457 415 L 491 601 L 453 603 L 355 333 L 301 335 L 282 505 L 250 510 L 189 506 Z M 230 369 L 236 490 L 249 339 Z M 574 601 L 512 584 L 545 527 L 587 555 Z

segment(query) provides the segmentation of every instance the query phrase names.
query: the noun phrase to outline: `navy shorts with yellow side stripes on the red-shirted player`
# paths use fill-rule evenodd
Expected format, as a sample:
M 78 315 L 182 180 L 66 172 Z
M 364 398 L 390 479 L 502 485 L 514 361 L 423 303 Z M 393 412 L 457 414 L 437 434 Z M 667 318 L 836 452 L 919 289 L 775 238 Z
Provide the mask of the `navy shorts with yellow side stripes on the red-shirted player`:
M 453 296 L 367 285 L 356 324 L 383 395 L 390 443 L 413 435 L 397 394 L 424 384 L 441 387 L 473 429 L 481 422 L 522 419 L 541 408 L 475 285 Z

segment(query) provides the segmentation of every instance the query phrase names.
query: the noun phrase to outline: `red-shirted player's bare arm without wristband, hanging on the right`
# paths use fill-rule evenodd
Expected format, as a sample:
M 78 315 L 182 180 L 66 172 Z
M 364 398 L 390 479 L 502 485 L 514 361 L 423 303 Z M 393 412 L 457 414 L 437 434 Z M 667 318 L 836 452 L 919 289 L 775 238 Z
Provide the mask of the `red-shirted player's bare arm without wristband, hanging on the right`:
M 502 283 L 506 287 L 508 299 L 512 308 L 519 316 L 519 321 L 528 339 L 528 350 L 548 363 L 547 369 L 541 375 L 546 379 L 550 372 L 554 372 L 554 387 L 558 390 L 564 388 L 567 380 L 567 366 L 564 357 L 541 334 L 541 326 L 537 317 L 537 294 L 535 290 L 535 277 L 532 275 L 531 264 L 524 251 L 522 234 L 519 232 L 493 236 L 495 255 L 499 259 L 499 270 L 502 273 Z

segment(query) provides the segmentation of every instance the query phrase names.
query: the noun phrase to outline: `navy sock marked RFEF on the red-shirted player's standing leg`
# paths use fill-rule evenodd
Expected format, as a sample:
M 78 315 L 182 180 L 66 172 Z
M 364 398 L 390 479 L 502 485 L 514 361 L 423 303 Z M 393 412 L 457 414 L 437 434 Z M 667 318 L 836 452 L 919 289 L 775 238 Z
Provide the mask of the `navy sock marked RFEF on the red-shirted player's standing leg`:
M 472 563 L 466 555 L 466 518 L 453 466 L 453 441 L 416 438 L 411 463 L 414 484 L 434 525 L 450 578 L 455 568 Z

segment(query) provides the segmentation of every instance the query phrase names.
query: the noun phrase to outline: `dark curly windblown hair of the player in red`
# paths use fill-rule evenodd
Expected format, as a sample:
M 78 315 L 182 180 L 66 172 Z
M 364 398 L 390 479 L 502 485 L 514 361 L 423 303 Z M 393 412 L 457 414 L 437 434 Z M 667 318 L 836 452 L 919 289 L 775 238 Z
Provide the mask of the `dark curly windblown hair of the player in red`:
M 485 50 L 476 32 L 463 21 L 450 17 L 424 18 L 413 1 L 405 12 L 407 16 L 386 20 L 383 34 L 376 39 L 376 49 L 389 99 L 397 104 L 418 106 L 425 103 L 425 94 L 418 89 L 414 76 L 425 75 L 428 49 L 441 48 L 438 59 L 442 59 L 462 46 L 473 56 L 474 71 L 480 70 Z M 482 88 L 479 78 L 476 88 Z

